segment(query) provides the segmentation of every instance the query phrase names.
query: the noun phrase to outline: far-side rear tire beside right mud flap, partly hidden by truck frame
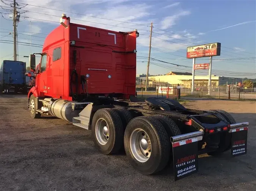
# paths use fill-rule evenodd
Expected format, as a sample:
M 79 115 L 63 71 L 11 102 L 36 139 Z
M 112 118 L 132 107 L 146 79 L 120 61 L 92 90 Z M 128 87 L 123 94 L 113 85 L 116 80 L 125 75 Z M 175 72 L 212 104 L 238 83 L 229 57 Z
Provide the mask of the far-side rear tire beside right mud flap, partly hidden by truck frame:
M 214 112 L 217 112 L 220 114 L 226 121 L 230 124 L 236 123 L 236 120 L 226 111 L 218 109 L 218 110 L 212 110 Z M 217 151 L 213 152 L 207 152 L 208 155 L 210 156 L 218 156 L 222 152 L 225 152 L 229 150 L 231 147 L 231 133 L 225 132 L 224 134 L 221 135 L 220 137 L 220 144 L 219 144 L 219 149 Z

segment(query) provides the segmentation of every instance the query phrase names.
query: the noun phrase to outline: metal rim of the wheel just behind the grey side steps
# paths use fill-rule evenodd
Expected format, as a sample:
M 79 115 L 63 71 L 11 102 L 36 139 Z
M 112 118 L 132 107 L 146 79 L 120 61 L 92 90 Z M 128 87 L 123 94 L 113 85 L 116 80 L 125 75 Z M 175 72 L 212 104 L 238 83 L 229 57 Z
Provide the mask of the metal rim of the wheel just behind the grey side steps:
M 101 145 L 106 145 L 109 139 L 109 128 L 105 119 L 100 118 L 97 120 L 95 125 L 95 134 L 97 141 Z

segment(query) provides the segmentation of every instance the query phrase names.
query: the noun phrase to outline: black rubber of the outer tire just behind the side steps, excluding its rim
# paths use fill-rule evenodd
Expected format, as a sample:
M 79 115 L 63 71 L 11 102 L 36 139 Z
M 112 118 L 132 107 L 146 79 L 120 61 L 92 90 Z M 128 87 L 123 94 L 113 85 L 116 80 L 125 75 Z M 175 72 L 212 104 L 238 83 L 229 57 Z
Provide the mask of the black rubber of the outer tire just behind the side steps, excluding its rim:
M 104 119 L 108 126 L 109 136 L 107 143 L 102 145 L 96 136 L 96 124 L 99 119 Z M 92 137 L 94 145 L 102 154 L 115 154 L 123 145 L 124 128 L 121 117 L 114 109 L 104 108 L 95 112 L 92 120 Z

